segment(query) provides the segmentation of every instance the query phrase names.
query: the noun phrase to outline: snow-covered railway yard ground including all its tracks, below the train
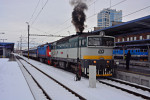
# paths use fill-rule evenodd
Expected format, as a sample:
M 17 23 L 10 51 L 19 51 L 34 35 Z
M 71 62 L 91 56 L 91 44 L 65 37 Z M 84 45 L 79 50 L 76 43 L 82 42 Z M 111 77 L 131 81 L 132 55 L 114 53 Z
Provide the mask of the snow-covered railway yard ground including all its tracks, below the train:
M 5 84 L 1 87 L 0 100 L 150 99 L 150 88 L 144 85 L 110 77 L 97 78 L 96 88 L 90 88 L 88 78 L 82 77 L 80 81 L 75 81 L 75 74 L 64 69 L 16 54 L 13 60 L 0 59 L 3 62 L 0 63 L 3 66 L 0 68 L 0 84 Z M 9 70 L 12 68 L 15 70 Z M 8 91 L 9 97 L 6 96 Z

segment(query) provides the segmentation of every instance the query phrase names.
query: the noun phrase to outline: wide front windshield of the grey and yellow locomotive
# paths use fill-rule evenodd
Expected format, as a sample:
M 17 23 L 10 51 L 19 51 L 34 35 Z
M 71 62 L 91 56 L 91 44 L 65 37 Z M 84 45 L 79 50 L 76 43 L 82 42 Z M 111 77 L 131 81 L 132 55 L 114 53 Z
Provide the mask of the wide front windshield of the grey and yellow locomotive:
M 114 38 L 88 37 L 88 46 L 114 46 Z

